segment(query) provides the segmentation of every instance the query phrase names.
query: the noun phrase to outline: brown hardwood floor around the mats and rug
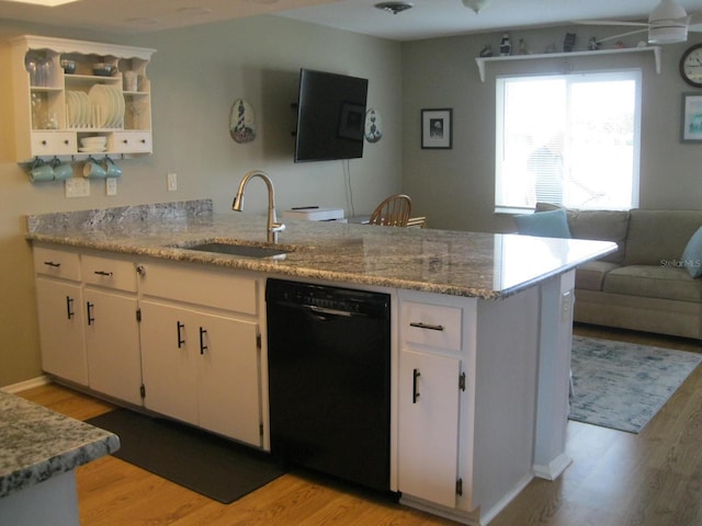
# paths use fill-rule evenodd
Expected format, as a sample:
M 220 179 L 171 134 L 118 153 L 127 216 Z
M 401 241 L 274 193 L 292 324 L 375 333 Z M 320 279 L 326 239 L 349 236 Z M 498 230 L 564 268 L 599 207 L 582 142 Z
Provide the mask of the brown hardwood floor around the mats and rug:
M 702 352 L 700 343 L 578 325 L 577 334 Z M 84 420 L 107 403 L 50 385 L 23 396 Z M 574 464 L 554 481 L 534 480 L 490 526 L 702 526 L 702 367 L 638 434 L 568 424 Z M 455 524 L 307 473 L 285 474 L 224 505 L 114 457 L 77 471 L 83 526 Z

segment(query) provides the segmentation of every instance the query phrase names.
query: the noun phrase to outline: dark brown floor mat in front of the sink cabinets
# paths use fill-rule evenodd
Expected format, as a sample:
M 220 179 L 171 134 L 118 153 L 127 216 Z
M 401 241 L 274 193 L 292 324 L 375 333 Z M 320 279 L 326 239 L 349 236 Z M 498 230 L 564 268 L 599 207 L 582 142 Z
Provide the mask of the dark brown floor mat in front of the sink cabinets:
M 262 451 L 169 420 L 116 409 L 87 422 L 120 437 L 113 456 L 224 504 L 283 474 Z

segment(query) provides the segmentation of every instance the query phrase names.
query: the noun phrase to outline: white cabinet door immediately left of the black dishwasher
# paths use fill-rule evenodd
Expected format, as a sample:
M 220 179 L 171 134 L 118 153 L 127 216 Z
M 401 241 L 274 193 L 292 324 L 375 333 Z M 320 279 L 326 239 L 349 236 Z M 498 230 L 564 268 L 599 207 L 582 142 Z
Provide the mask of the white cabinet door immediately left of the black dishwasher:
M 261 446 L 258 328 L 254 322 L 200 315 L 200 425 Z M 200 342 L 199 342 L 200 346 Z

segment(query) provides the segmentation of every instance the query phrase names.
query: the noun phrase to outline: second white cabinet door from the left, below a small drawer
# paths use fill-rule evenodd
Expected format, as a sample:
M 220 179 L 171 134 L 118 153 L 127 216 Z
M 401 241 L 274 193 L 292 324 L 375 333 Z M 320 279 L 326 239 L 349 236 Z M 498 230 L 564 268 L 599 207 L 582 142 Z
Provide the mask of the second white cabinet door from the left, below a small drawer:
M 86 289 L 86 348 L 90 388 L 129 403 L 141 403 L 141 361 L 137 301 Z

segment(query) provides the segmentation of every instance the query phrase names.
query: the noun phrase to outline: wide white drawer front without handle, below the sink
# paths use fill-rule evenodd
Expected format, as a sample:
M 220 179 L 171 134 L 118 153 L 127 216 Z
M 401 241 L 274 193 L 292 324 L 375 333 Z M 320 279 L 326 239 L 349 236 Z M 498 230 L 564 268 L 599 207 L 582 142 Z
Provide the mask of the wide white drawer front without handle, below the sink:
M 182 263 L 149 263 L 143 266 L 139 290 L 146 296 L 247 315 L 257 313 L 257 282 L 253 278 L 240 277 L 233 271 L 216 267 L 185 267 Z

